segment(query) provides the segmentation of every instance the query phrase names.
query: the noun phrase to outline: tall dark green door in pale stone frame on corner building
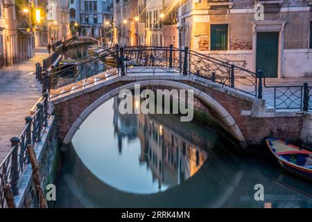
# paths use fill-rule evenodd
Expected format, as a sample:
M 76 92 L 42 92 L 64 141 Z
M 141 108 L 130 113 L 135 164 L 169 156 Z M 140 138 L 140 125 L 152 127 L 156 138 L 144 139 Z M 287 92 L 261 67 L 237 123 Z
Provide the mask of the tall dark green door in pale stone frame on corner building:
M 266 78 L 277 78 L 279 33 L 257 33 L 256 69 L 262 69 Z

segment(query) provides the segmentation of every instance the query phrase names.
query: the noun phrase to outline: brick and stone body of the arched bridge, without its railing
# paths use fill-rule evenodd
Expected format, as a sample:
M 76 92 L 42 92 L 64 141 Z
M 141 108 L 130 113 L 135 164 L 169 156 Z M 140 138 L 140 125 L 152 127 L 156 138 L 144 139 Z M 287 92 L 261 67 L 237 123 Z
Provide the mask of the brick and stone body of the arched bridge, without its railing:
M 193 89 L 194 96 L 243 147 L 259 144 L 269 136 L 298 142 L 302 133 L 304 112 L 269 108 L 265 100 L 254 99 L 230 87 L 220 87 L 218 83 L 198 76 L 134 74 L 109 78 L 51 99 L 60 141 L 69 144 L 89 114 L 122 89 L 134 89 L 135 84 L 141 87 Z

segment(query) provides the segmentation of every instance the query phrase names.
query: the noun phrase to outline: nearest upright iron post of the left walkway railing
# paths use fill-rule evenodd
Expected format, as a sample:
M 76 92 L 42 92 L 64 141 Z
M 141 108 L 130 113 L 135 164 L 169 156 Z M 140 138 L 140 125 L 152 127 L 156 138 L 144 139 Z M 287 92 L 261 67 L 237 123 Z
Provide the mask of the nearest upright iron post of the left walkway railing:
M 10 139 L 12 144 L 12 157 L 11 157 L 11 175 L 10 175 L 10 185 L 13 191 L 13 195 L 19 194 L 19 190 L 17 189 L 17 182 L 19 180 L 19 138 L 12 137 Z

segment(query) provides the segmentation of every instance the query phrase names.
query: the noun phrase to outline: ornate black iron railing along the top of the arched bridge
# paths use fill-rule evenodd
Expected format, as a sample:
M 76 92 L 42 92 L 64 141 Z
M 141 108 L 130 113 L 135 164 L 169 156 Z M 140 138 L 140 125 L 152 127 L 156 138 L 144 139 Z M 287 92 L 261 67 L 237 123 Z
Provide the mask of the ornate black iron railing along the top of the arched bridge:
M 196 75 L 257 96 L 257 75 L 234 64 L 184 49 L 160 46 L 116 45 L 62 71 L 46 75 L 45 89 L 58 89 L 116 68 L 116 74 Z

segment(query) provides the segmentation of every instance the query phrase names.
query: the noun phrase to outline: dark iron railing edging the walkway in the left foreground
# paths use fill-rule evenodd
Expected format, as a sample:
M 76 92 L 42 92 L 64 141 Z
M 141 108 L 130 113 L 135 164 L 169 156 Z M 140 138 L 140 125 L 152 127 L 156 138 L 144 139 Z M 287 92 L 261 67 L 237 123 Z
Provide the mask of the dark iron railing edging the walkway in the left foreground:
M 17 183 L 28 164 L 26 147 L 41 141 L 43 128 L 47 126 L 48 93 L 44 93 L 43 100 L 37 103 L 37 111 L 32 117 L 26 117 L 26 126 L 18 137 L 10 139 L 12 148 L 0 164 L 0 208 L 6 207 L 3 187 L 10 184 L 12 194 L 17 195 Z

